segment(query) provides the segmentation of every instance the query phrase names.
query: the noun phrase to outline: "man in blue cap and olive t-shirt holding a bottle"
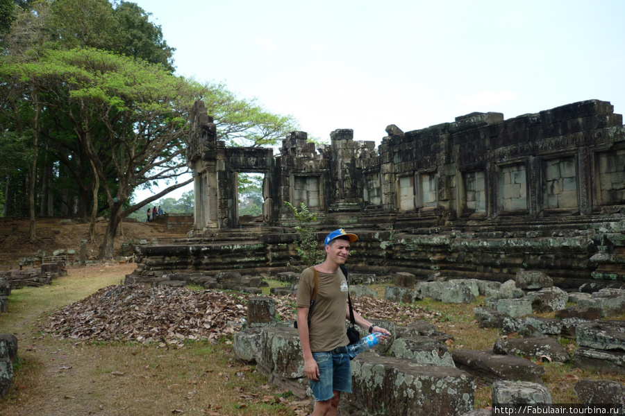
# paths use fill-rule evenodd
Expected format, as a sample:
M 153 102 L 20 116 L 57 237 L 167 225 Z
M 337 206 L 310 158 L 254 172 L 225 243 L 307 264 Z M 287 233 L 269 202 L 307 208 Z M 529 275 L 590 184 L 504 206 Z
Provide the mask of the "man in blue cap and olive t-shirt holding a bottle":
M 317 270 L 317 298 L 310 316 L 310 297 L 315 286 L 313 268 L 301 273 L 297 289 L 297 328 L 304 360 L 304 372 L 315 395 L 311 416 L 335 416 L 341 392 L 351 393 L 351 365 L 347 355 L 345 320 L 349 319 L 347 306 L 347 279 L 339 266 L 349 256 L 350 245 L 358 239 L 344 229 L 337 229 L 326 237 L 326 261 Z M 372 332 L 381 332 L 383 339 L 390 336 L 384 328 L 372 324 L 353 311 L 356 324 Z

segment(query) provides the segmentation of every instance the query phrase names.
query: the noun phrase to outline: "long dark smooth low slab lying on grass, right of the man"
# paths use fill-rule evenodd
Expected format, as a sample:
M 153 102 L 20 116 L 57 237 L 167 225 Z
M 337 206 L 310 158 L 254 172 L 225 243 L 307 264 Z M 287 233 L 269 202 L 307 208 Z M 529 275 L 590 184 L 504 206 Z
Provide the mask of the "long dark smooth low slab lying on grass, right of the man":
M 485 381 L 540 381 L 544 368 L 526 358 L 503 356 L 474 349 L 455 349 L 451 356 L 456 367 Z

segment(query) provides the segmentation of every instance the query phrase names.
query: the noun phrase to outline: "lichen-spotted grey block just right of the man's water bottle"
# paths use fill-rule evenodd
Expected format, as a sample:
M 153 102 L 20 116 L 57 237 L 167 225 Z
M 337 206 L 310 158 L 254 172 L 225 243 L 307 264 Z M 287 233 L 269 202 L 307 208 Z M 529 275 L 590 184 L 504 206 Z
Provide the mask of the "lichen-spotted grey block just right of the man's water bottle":
M 447 345 L 426 336 L 398 338 L 390 347 L 388 354 L 398 358 L 410 358 L 419 364 L 456 367 Z

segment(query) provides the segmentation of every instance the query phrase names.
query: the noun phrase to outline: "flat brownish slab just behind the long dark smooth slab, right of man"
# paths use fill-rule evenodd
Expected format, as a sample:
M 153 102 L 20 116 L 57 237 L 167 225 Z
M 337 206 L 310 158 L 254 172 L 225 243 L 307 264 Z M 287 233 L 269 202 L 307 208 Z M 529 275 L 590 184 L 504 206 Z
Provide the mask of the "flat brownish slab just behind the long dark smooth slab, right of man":
M 548 361 L 566 363 L 569 353 L 557 340 L 548 336 L 531 338 L 497 338 L 492 352 L 495 354 L 518 355 L 525 358 L 547 357 Z

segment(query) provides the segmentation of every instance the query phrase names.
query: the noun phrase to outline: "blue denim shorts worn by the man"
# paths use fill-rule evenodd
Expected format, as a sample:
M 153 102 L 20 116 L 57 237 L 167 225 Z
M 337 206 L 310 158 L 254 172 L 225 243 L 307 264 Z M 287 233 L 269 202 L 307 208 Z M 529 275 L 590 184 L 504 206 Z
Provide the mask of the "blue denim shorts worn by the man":
M 347 353 L 313 352 L 319 367 L 319 380 L 308 380 L 315 400 L 326 401 L 334 397 L 333 390 L 351 393 L 351 365 Z

